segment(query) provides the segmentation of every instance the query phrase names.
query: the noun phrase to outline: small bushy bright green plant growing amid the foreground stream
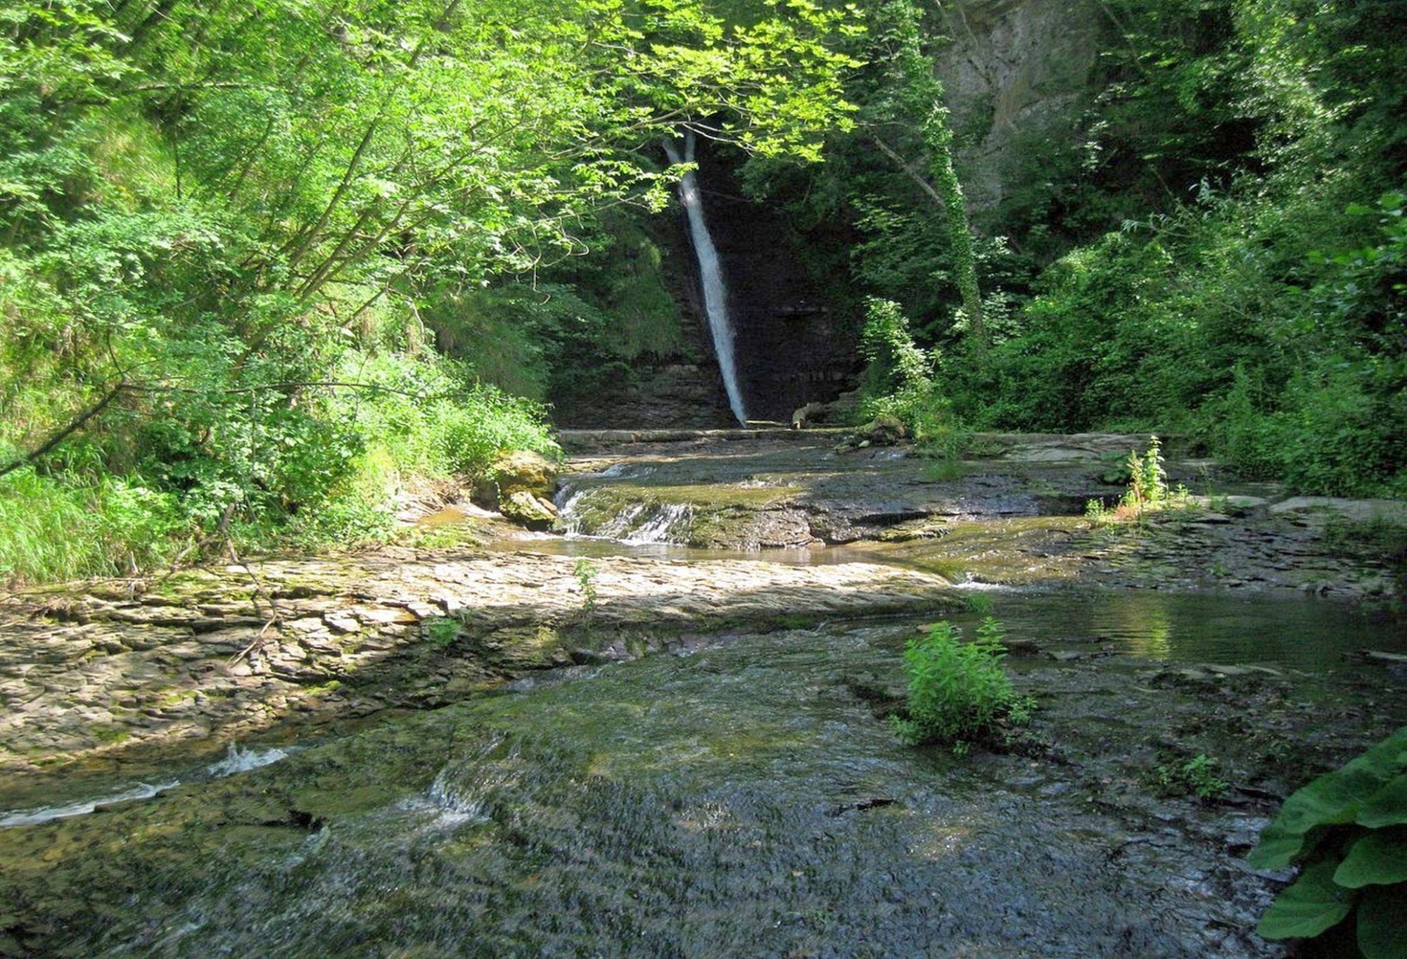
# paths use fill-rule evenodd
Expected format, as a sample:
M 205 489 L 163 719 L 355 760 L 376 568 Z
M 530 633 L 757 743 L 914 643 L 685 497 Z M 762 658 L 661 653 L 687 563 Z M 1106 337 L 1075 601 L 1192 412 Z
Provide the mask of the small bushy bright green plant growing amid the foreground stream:
M 899 738 L 910 745 L 957 744 L 991 738 L 1003 720 L 1029 720 L 1033 704 L 1017 695 L 1002 668 L 1003 636 L 1000 623 L 988 616 L 971 643 L 962 643 L 947 620 L 909 640 L 903 651 L 908 713 L 889 717 Z

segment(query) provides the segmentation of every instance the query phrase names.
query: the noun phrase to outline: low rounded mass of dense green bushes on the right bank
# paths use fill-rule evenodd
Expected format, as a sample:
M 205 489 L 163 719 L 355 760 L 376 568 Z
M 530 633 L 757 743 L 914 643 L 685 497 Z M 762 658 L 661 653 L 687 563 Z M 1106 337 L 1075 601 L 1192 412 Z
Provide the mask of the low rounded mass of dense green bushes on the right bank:
M 1162 427 L 1306 492 L 1401 492 L 1403 198 L 1369 214 L 1328 194 L 1210 200 L 1065 256 L 995 347 L 995 388 L 955 397 L 960 412 Z

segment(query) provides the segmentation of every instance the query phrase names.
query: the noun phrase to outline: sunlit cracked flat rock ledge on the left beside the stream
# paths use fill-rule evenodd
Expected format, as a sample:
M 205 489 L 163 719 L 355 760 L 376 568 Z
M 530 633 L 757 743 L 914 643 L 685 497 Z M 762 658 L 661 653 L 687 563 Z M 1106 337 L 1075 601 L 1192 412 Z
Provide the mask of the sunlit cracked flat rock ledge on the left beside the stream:
M 926 614 L 941 577 L 865 562 L 381 550 L 0 600 L 0 773 L 387 707 L 733 630 Z

